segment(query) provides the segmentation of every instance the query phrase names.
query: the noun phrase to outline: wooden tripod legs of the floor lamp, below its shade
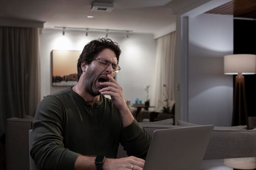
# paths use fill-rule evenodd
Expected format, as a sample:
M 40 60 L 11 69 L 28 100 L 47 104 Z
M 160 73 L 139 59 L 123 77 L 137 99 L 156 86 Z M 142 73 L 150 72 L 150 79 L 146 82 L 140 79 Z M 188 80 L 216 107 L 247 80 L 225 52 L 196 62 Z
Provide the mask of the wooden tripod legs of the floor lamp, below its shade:
M 242 93 L 242 94 L 241 94 Z M 237 96 L 238 95 L 238 96 Z M 242 96 L 243 95 L 243 96 Z M 238 99 L 237 99 L 238 97 Z M 238 73 L 236 76 L 235 90 L 234 90 L 234 101 L 233 101 L 233 117 L 232 117 L 232 126 L 242 125 L 242 105 L 241 100 L 243 99 L 243 108 L 245 114 L 245 124 L 248 125 L 248 115 L 247 115 L 247 105 L 245 97 L 245 77 L 242 73 Z M 236 108 L 238 105 L 238 124 L 236 124 Z

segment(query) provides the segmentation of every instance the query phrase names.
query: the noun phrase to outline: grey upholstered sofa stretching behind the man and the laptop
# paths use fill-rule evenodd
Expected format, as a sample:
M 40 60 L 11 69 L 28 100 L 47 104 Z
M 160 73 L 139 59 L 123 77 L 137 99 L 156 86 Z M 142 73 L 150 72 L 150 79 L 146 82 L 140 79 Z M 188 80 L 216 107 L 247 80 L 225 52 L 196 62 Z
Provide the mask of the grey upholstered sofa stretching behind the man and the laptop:
M 198 126 L 179 120 L 178 125 L 173 125 L 173 119 L 140 122 L 139 124 L 150 135 L 153 135 L 153 132 L 157 129 Z M 7 119 L 7 170 L 29 170 L 29 129 L 31 128 L 32 119 Z M 252 130 L 247 130 L 246 128 L 246 126 L 214 127 L 204 160 L 255 157 L 256 128 Z M 127 157 L 127 155 L 120 145 L 117 158 L 121 157 Z

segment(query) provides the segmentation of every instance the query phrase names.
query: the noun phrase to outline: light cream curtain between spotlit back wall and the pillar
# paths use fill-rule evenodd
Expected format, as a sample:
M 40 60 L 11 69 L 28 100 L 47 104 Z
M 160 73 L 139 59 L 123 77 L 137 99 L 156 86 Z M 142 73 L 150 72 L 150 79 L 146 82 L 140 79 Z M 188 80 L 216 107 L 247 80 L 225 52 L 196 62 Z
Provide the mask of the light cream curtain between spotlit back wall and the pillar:
M 174 52 L 176 32 L 157 38 L 156 49 L 156 74 L 153 104 L 156 110 L 169 106 L 174 99 Z M 165 100 L 168 100 L 165 102 Z

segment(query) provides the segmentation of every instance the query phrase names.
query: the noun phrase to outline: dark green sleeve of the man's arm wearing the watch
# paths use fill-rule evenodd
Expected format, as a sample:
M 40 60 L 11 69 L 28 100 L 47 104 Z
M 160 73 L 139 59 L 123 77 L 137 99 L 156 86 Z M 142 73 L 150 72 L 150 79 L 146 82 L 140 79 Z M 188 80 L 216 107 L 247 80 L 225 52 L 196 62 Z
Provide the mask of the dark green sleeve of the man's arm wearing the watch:
M 65 107 L 54 97 L 45 97 L 33 121 L 31 157 L 40 170 L 74 170 L 80 155 L 64 147 L 63 120 Z

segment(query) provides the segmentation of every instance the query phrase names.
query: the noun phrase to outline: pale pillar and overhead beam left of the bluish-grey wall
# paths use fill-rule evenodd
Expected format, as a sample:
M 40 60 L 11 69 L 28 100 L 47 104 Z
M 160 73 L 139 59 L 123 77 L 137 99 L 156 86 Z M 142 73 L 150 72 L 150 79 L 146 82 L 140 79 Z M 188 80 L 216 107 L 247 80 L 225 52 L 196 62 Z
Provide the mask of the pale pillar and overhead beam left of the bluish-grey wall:
M 189 17 L 195 17 L 232 0 L 172 0 L 176 15 L 175 120 L 189 121 Z M 199 28 L 199 30 L 201 30 Z M 231 29 L 232 30 L 232 29 Z

